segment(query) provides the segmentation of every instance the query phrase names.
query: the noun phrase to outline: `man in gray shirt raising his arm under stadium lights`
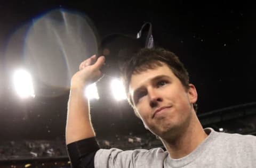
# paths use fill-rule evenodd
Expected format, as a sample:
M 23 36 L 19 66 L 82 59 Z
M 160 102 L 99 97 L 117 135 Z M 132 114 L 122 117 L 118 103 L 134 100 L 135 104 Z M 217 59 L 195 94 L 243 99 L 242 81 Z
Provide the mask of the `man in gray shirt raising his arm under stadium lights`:
M 203 129 L 197 92 L 178 57 L 161 48 L 141 49 L 123 68 L 129 103 L 161 148 L 100 149 L 90 121 L 85 85 L 102 77 L 101 56 L 88 58 L 71 79 L 66 142 L 74 167 L 255 167 L 256 137 Z

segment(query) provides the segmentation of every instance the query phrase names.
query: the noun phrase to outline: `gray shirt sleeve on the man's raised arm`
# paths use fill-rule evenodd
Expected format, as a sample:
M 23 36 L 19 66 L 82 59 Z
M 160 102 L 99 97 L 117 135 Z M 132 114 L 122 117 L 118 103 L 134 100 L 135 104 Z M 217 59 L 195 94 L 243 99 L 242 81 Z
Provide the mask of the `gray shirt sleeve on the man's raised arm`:
M 164 167 L 167 153 L 162 148 L 121 150 L 99 149 L 94 156 L 95 168 Z

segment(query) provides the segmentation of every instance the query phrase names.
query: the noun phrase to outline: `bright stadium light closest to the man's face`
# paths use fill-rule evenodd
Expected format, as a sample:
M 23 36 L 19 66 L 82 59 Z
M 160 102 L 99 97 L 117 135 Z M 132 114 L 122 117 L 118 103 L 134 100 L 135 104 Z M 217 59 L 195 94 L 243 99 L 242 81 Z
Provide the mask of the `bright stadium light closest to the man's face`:
M 126 99 L 124 85 L 119 79 L 113 79 L 111 81 L 111 90 L 116 100 Z

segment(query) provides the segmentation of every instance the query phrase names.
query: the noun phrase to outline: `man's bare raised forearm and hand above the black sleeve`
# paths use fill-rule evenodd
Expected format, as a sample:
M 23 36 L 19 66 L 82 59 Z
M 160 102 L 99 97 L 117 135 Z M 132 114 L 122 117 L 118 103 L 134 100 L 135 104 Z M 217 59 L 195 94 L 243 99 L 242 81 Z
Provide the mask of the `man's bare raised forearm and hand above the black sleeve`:
M 89 100 L 84 96 L 84 88 L 102 77 L 101 66 L 105 57 L 96 60 L 93 55 L 79 66 L 71 79 L 66 124 L 66 144 L 95 136 L 91 117 Z

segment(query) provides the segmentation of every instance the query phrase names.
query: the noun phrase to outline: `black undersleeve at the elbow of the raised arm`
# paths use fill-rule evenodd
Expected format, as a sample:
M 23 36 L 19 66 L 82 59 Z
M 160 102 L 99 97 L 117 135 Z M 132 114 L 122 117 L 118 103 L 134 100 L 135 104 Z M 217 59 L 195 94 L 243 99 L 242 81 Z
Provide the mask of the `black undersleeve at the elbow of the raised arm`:
M 67 145 L 71 166 L 94 168 L 94 155 L 100 149 L 95 137 L 86 138 Z

